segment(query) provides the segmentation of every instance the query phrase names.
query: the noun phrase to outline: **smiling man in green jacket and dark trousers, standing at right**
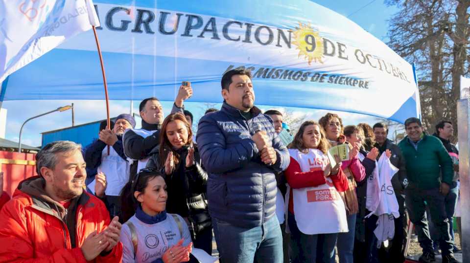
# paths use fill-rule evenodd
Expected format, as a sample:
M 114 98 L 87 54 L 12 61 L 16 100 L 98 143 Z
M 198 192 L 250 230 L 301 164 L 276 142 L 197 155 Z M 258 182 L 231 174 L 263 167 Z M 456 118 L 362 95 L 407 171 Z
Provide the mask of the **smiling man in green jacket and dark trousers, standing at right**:
M 435 260 L 432 240 L 424 216 L 427 204 L 431 212 L 431 220 L 439 229 L 442 262 L 456 263 L 444 202 L 452 185 L 452 160 L 438 138 L 423 132 L 420 119 L 408 118 L 405 121 L 405 129 L 408 136 L 401 140 L 398 146 L 406 161 L 409 182 L 405 189 L 405 203 L 423 248 L 423 255 L 419 261 L 428 263 Z

